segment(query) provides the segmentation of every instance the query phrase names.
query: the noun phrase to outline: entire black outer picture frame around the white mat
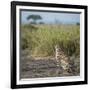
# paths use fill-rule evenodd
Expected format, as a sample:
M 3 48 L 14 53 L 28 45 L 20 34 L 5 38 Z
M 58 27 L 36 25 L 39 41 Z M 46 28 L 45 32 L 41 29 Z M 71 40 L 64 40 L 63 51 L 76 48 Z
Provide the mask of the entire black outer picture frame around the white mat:
M 17 31 L 16 31 L 16 7 L 17 6 L 37 6 L 37 7 L 51 7 L 51 8 L 75 8 L 84 10 L 84 80 L 83 81 L 70 81 L 70 82 L 51 82 L 51 83 L 37 83 L 37 84 L 17 84 Z M 31 88 L 31 87 L 48 87 L 48 86 L 65 86 L 65 85 L 80 85 L 88 83 L 88 64 L 87 64 L 87 27 L 88 27 L 88 7 L 84 5 L 69 5 L 69 4 L 52 4 L 52 3 L 35 3 L 35 2 L 11 2 L 11 88 Z

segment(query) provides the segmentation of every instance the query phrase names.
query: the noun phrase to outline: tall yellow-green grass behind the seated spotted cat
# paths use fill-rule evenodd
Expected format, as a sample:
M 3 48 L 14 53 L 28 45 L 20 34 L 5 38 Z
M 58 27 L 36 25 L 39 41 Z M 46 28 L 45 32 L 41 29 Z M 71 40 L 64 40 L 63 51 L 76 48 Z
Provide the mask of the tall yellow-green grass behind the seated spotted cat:
M 54 56 L 57 44 L 67 55 L 79 56 L 79 25 L 21 26 L 21 47 L 30 50 L 33 56 Z

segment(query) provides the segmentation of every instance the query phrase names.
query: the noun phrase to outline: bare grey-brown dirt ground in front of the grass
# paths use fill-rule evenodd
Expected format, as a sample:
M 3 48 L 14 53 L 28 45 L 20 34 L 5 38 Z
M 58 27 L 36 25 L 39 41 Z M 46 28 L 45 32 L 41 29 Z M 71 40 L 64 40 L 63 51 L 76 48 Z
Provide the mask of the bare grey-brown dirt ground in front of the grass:
M 22 57 L 20 60 L 20 78 L 42 78 L 42 77 L 61 77 L 77 76 L 79 73 L 73 71 L 65 72 L 57 66 L 55 58 Z

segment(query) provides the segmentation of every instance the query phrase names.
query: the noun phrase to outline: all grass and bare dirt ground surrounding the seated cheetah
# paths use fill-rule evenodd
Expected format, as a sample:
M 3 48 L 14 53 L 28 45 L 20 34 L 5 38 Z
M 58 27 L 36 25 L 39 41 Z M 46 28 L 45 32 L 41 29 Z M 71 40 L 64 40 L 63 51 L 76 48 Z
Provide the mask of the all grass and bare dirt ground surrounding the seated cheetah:
M 56 65 L 55 45 L 70 58 L 73 72 Z M 80 74 L 79 25 L 21 25 L 20 78 L 78 76 Z

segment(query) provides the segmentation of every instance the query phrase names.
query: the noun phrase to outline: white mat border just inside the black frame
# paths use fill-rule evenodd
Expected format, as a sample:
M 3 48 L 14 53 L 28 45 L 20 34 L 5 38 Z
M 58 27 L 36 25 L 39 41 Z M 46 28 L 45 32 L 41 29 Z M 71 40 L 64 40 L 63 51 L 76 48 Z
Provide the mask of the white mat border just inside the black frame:
M 35 79 L 21 79 L 19 78 L 19 12 L 20 9 L 35 9 L 35 10 L 50 10 L 50 11 L 69 11 L 69 12 L 81 12 L 80 14 L 80 76 L 68 76 L 68 77 L 49 77 L 49 78 L 35 78 Z M 71 9 L 71 8 L 51 8 L 51 7 L 35 7 L 35 6 L 17 6 L 16 7 L 16 76 L 17 85 L 21 84 L 36 84 L 36 83 L 55 83 L 55 82 L 72 82 L 72 81 L 84 81 L 84 9 Z

